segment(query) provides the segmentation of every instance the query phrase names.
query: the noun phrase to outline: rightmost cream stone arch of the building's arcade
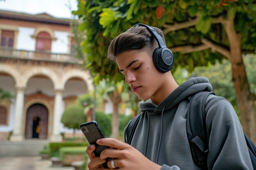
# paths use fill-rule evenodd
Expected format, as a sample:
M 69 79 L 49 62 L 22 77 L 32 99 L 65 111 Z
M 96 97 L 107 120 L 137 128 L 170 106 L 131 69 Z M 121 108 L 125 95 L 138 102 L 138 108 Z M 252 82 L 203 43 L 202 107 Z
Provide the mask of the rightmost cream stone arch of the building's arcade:
M 61 88 L 64 89 L 67 80 L 69 80 L 73 77 L 81 78 L 83 80 L 83 82 L 85 83 L 88 91 L 93 90 L 92 77 L 90 76 L 88 71 L 81 71 L 81 70 L 71 70 L 71 71 L 68 71 L 67 73 L 65 73 L 65 75 L 63 76 L 63 79 L 61 81 L 62 82 Z

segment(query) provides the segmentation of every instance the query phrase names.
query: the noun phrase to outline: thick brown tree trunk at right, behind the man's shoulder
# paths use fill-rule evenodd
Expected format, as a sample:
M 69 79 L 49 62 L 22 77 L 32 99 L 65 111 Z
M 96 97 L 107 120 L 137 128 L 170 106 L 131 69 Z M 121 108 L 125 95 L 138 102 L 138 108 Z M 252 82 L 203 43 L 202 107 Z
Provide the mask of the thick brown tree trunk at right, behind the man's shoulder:
M 234 11 L 228 11 L 223 26 L 229 40 L 231 53 L 232 81 L 236 90 L 237 104 L 240 110 L 241 124 L 245 134 L 256 143 L 255 94 L 250 92 L 241 53 L 241 36 L 234 27 Z

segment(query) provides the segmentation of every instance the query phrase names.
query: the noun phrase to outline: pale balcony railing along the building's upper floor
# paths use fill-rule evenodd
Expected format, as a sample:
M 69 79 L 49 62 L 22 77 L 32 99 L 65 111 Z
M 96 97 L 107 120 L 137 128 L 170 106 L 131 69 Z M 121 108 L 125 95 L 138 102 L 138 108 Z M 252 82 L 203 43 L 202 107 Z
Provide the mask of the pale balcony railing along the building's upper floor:
M 76 59 L 73 55 L 60 54 L 60 53 L 47 53 L 41 51 L 25 51 L 9 48 L 0 48 L 0 57 L 15 58 L 23 60 L 36 60 L 48 62 L 65 62 L 82 64 L 82 61 Z

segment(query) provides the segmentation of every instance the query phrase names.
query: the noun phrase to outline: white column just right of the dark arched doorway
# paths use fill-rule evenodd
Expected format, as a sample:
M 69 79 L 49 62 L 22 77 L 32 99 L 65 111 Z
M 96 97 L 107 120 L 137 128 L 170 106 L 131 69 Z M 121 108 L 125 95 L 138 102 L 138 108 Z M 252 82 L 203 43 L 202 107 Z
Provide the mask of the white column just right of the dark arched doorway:
M 61 104 L 63 90 L 55 90 L 54 111 L 53 111 L 53 126 L 51 141 L 61 141 Z

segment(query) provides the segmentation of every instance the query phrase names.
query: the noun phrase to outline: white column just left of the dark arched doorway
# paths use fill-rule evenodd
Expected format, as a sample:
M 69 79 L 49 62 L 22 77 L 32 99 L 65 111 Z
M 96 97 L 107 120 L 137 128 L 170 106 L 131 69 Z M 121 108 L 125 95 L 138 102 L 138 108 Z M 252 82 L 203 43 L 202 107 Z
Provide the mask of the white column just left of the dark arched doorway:
M 23 135 L 21 134 L 24 108 L 24 90 L 25 87 L 17 87 L 14 111 L 14 125 L 11 135 L 11 141 L 22 141 L 24 139 Z

